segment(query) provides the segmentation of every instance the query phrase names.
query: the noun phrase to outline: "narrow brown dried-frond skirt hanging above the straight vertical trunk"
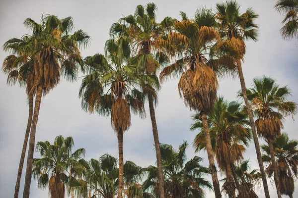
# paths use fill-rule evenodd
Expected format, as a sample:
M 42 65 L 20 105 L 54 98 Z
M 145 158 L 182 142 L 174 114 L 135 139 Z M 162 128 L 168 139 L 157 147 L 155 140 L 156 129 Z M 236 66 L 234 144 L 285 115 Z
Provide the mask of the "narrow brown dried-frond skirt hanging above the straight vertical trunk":
M 113 129 L 118 133 L 128 130 L 131 125 L 130 107 L 126 99 L 117 98 L 112 104 L 111 124 Z

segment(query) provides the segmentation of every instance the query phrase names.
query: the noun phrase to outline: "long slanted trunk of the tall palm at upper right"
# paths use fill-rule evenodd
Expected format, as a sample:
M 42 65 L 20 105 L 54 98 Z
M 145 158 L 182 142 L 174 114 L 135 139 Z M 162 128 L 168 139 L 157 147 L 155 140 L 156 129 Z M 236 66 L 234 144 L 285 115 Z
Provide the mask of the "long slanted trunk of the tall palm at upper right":
M 265 169 L 264 169 L 263 160 L 262 160 L 262 154 L 261 154 L 261 150 L 260 150 L 259 139 L 258 139 L 258 136 L 257 136 L 255 125 L 254 125 L 252 110 L 250 108 L 250 104 L 249 104 L 249 101 L 248 101 L 247 95 L 246 95 L 245 81 L 244 81 L 244 77 L 243 77 L 243 73 L 242 73 L 242 66 L 241 66 L 241 60 L 240 59 L 237 61 L 237 67 L 238 67 L 238 74 L 239 74 L 239 79 L 240 79 L 240 84 L 241 84 L 241 91 L 242 91 L 243 99 L 244 99 L 245 106 L 246 106 L 247 113 L 248 113 L 248 117 L 249 117 L 253 142 L 254 142 L 254 145 L 255 145 L 255 149 L 256 149 L 256 153 L 257 153 L 257 159 L 258 159 L 260 172 L 261 172 L 261 177 L 262 177 L 262 181 L 263 181 L 265 198 L 270 198 L 267 179 L 266 179 L 266 174 L 265 174 Z

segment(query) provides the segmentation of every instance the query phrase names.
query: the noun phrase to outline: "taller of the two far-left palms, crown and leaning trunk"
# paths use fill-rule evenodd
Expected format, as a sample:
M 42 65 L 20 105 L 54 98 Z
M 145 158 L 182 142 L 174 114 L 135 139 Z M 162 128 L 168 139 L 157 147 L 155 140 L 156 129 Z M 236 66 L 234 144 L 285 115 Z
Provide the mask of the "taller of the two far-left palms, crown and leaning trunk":
M 24 25 L 32 31 L 24 43 L 20 39 L 10 39 L 4 45 L 4 50 L 32 49 L 34 79 L 29 94 L 36 92 L 32 125 L 30 130 L 29 150 L 25 176 L 23 198 L 29 198 L 33 153 L 35 145 L 36 125 L 42 94 L 46 95 L 59 82 L 61 76 L 67 80 L 76 79 L 78 66 L 81 63 L 80 46 L 87 46 L 89 36 L 82 30 L 69 34 L 74 29 L 73 18 L 59 19 L 54 15 L 42 17 L 41 24 L 27 18 Z

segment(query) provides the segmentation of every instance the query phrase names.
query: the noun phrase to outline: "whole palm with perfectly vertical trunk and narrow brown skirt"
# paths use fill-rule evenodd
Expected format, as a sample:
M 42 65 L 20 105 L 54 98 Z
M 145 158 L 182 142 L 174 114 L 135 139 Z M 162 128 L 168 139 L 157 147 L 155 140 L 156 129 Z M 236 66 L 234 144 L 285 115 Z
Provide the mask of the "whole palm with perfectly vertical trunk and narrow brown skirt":
M 126 47 L 110 39 L 105 44 L 106 55 L 87 56 L 84 59 L 87 75 L 79 90 L 85 111 L 95 110 L 100 115 L 111 116 L 112 128 L 118 137 L 118 198 L 122 197 L 123 188 L 123 134 L 131 125 L 131 109 L 145 116 L 144 95 L 135 86 L 146 77 L 137 74 L 137 66 L 132 64 L 134 58 L 129 58 Z

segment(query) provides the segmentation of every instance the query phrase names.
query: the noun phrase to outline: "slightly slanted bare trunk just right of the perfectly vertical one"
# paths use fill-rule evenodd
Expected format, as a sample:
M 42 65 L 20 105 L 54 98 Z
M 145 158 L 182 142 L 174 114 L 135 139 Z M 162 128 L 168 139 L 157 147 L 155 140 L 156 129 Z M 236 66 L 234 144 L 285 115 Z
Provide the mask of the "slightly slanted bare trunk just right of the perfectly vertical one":
M 152 131 L 153 131 L 153 138 L 155 144 L 155 152 L 156 152 L 156 160 L 157 160 L 157 172 L 158 172 L 158 198 L 164 198 L 164 184 L 163 184 L 163 171 L 162 171 L 162 163 L 161 163 L 161 153 L 159 148 L 159 140 L 158 140 L 158 131 L 155 119 L 155 110 L 153 105 L 152 96 L 148 95 L 149 101 L 149 111 L 152 123 Z

